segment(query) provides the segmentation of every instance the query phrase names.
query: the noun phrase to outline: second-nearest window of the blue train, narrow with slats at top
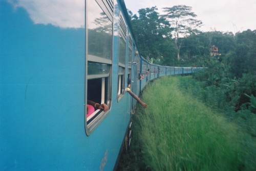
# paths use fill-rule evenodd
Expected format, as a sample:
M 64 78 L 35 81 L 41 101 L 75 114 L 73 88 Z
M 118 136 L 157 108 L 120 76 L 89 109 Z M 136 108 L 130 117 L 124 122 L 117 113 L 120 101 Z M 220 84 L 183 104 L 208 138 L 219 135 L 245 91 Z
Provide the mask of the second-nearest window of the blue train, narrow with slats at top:
M 122 15 L 119 20 L 119 58 L 118 58 L 118 99 L 124 94 L 125 58 L 126 58 L 126 34 L 127 29 Z

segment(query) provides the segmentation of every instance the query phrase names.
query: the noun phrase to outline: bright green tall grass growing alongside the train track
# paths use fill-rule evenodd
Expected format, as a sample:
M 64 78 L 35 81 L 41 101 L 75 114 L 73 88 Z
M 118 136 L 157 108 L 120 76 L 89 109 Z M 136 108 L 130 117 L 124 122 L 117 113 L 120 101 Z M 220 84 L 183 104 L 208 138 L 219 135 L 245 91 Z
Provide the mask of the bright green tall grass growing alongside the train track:
M 137 164 L 124 170 L 241 169 L 238 126 L 180 90 L 179 78 L 154 81 L 143 101 L 148 108 L 133 116 L 132 147 L 123 158 Z

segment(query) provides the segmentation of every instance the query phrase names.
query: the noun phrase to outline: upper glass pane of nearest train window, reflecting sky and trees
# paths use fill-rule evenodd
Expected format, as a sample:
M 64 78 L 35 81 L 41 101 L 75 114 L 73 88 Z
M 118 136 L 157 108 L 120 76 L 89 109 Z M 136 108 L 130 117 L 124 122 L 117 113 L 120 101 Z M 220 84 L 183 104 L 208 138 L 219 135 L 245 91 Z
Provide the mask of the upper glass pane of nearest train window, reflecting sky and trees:
M 112 59 L 112 22 L 95 1 L 88 1 L 88 54 Z

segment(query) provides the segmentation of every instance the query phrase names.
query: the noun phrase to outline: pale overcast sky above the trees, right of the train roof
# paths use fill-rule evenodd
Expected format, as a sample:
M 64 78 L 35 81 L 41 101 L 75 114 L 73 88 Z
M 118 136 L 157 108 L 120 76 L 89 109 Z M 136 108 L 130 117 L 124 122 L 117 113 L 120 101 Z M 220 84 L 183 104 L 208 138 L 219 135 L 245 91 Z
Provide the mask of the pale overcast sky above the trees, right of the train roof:
M 186 5 L 192 7 L 197 19 L 203 22 L 199 30 L 243 32 L 256 30 L 256 0 L 124 0 L 126 8 L 138 14 L 142 8 L 156 6 L 158 12 L 164 7 Z

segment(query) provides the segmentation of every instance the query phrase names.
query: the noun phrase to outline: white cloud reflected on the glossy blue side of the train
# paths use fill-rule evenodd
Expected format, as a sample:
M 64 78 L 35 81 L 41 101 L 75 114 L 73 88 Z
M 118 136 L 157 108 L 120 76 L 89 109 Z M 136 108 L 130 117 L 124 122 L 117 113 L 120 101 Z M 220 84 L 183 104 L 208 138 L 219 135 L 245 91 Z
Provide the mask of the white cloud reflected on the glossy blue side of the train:
M 84 28 L 83 0 L 9 0 L 16 8 L 24 8 L 35 24 L 60 28 Z

